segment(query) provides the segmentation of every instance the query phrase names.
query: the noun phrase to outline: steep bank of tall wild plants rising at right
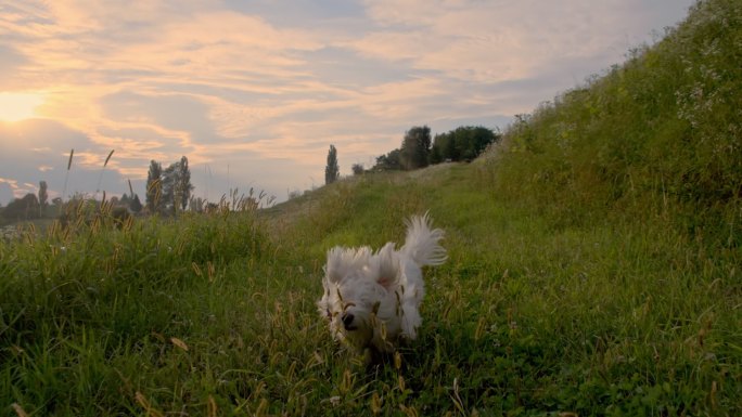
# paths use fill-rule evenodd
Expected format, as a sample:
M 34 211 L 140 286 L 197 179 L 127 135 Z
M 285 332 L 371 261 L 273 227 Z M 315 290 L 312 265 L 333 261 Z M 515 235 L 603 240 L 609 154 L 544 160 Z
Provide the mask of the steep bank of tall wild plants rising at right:
M 669 216 L 739 246 L 741 45 L 742 3 L 700 2 L 653 48 L 514 123 L 498 192 L 576 220 L 584 207 Z

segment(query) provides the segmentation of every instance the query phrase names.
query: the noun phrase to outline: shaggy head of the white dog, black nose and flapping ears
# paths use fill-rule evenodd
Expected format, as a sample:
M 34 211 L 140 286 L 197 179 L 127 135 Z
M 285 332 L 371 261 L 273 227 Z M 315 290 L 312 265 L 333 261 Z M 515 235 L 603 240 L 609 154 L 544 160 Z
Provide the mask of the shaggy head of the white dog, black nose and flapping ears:
M 324 270 L 324 292 L 317 303 L 320 315 L 329 322 L 335 339 L 368 347 L 387 325 L 380 314 L 397 304 L 394 291 L 388 290 L 394 277 L 381 274 L 379 257 L 369 248 L 331 249 Z

